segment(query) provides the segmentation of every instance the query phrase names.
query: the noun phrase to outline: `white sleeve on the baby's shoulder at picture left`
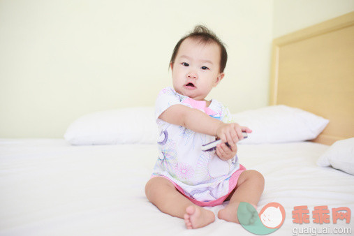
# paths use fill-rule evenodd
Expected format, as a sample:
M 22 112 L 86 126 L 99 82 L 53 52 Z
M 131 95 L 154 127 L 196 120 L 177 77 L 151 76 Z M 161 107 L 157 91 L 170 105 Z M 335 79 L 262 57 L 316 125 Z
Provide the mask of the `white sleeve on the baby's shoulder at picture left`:
M 182 98 L 170 87 L 162 89 L 157 96 L 155 103 L 155 119 L 158 121 L 158 117 L 171 105 L 182 104 Z

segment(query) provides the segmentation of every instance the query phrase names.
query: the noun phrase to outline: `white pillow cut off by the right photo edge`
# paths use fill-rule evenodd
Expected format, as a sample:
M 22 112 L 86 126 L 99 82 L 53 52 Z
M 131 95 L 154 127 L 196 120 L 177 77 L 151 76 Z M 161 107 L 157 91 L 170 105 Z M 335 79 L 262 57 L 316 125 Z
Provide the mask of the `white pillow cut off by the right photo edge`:
M 339 140 L 318 158 L 317 165 L 330 166 L 354 175 L 354 138 Z

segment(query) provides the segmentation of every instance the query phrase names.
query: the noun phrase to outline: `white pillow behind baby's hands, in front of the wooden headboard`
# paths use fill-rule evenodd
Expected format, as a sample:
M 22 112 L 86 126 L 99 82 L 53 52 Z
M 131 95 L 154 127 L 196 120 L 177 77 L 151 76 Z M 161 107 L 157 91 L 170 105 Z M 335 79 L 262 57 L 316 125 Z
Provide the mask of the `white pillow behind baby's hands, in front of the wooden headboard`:
M 312 140 L 329 122 L 323 117 L 286 105 L 247 110 L 234 114 L 233 118 L 239 125 L 248 126 L 253 131 L 240 144 Z

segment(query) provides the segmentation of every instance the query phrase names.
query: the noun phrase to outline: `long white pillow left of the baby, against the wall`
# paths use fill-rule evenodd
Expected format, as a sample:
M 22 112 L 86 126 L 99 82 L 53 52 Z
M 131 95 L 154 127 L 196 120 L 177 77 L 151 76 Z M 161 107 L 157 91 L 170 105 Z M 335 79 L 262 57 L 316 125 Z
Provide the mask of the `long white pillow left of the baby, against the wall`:
M 156 143 L 154 108 L 124 108 L 94 112 L 76 119 L 66 130 L 72 145 Z

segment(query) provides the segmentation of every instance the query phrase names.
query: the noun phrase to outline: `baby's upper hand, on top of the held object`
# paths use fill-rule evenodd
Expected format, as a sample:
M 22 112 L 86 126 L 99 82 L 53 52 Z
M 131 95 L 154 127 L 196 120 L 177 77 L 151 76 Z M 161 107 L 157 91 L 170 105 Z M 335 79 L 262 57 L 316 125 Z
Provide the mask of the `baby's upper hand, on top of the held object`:
M 222 123 L 216 130 L 216 135 L 223 141 L 228 142 L 231 149 L 236 145 L 239 140 L 244 139 L 244 135 L 242 135 L 242 131 L 246 133 L 251 133 L 251 129 L 246 126 L 240 126 L 237 123 L 225 124 Z

